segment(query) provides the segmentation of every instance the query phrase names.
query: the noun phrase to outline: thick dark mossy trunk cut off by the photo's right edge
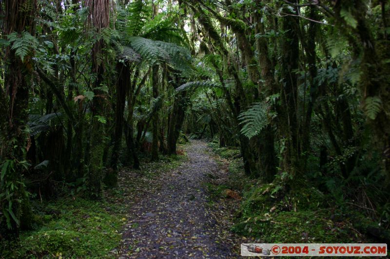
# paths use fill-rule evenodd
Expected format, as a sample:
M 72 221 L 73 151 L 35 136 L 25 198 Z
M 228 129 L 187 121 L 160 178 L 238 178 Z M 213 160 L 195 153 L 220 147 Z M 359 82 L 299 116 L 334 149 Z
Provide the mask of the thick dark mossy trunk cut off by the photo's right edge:
M 383 169 L 390 184 L 390 9 L 389 1 L 379 2 L 382 19 L 378 19 L 381 29 L 376 35 L 372 33 L 367 22 L 367 1 L 337 1 L 334 3 L 334 13 L 337 28 L 347 36 L 355 57 L 360 59 L 359 87 L 362 108 L 373 130 L 376 147 L 383 154 Z M 356 24 L 347 22 L 343 15 L 346 11 Z

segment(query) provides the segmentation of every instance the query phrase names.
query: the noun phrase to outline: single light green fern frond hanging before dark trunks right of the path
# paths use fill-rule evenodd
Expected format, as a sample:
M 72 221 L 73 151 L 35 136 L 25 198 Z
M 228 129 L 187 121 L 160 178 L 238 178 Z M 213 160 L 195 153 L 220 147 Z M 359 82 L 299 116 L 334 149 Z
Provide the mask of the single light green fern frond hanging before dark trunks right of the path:
M 254 103 L 246 111 L 238 116 L 242 125 L 241 134 L 247 138 L 253 138 L 267 126 L 276 114 L 270 111 L 267 103 Z

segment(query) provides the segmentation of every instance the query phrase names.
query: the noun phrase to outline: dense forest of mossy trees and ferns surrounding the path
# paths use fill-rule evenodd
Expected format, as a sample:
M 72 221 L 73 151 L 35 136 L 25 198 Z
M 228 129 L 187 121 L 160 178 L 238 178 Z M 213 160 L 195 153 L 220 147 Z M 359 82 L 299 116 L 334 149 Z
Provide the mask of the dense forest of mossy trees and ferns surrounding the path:
M 308 203 L 389 241 L 389 23 L 389 0 L 0 0 L 0 239 L 192 138 L 239 151 L 239 222 Z

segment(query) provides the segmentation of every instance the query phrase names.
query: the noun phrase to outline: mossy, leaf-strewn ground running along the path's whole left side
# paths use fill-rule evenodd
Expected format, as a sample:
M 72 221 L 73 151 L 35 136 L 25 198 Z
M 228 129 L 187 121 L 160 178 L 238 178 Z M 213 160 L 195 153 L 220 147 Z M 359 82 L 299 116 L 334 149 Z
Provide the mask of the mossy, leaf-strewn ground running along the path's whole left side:
M 105 191 L 103 201 L 86 199 L 81 192 L 54 201 L 33 201 L 34 229 L 21 231 L 17 243 L 0 242 L 0 258 L 114 258 L 110 251 L 121 241 L 132 193 L 185 159 L 184 154 L 143 161 L 141 170 L 130 169 L 139 177 L 122 177 L 117 188 Z M 130 172 L 123 171 L 122 175 Z

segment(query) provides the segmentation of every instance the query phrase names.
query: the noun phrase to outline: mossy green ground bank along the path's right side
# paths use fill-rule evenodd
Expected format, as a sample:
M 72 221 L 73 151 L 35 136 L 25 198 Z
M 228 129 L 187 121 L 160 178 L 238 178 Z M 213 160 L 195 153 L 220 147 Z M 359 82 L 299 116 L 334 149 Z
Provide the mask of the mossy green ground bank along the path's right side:
M 209 147 L 222 163 L 229 162 L 229 181 L 209 185 L 212 196 L 223 189 L 239 191 L 242 200 L 236 211 L 232 230 L 259 242 L 372 242 L 354 227 L 352 214 L 331 203 L 330 197 L 315 188 L 302 186 L 292 196 L 276 183 L 263 184 L 247 177 L 236 148 Z

